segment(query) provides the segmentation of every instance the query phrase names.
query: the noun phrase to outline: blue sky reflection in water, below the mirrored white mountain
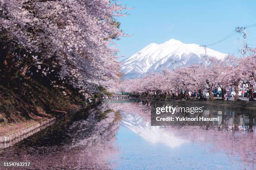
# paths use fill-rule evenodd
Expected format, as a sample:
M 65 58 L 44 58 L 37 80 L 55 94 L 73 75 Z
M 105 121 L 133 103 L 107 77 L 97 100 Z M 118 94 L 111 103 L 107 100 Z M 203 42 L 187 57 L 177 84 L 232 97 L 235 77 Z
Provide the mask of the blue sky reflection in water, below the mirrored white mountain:
M 241 170 L 241 160 L 232 161 L 224 153 L 212 153 L 208 148 L 196 143 L 184 143 L 170 148 L 160 143 L 150 143 L 121 125 L 115 144 L 120 149 L 118 167 L 115 169 L 232 169 Z M 205 168 L 204 168 L 205 167 Z

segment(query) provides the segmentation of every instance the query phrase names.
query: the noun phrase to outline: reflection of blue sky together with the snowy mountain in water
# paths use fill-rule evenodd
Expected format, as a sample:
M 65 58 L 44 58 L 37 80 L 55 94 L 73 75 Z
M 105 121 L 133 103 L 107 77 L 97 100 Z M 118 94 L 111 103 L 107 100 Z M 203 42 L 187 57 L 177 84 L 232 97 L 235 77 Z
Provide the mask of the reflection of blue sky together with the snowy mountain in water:
M 239 156 L 230 157 L 221 150 L 214 152 L 210 144 L 179 139 L 163 128 L 151 127 L 139 116 L 122 115 L 124 119 L 115 141 L 119 158 L 110 160 L 117 164 L 117 170 L 244 169 Z

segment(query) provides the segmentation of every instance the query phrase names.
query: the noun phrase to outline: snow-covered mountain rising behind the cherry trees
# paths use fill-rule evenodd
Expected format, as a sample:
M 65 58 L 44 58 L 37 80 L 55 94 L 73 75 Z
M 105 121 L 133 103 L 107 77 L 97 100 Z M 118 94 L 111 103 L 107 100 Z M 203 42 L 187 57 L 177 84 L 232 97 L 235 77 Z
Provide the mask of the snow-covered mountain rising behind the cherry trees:
M 207 48 L 208 57 L 225 58 L 227 54 Z M 197 44 L 184 44 L 171 39 L 162 44 L 151 43 L 123 61 L 124 78 L 141 77 L 147 72 L 159 72 L 163 68 L 205 63 L 205 49 Z

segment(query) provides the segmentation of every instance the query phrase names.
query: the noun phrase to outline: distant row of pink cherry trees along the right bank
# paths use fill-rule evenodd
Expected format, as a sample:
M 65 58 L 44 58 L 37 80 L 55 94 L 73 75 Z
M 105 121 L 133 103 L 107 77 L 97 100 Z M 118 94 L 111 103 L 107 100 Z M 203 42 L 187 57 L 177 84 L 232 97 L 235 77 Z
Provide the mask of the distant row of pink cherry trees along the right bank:
M 210 100 L 213 99 L 213 89 L 224 92 L 231 87 L 236 92 L 238 100 L 239 88 L 247 88 L 249 100 L 253 100 L 256 88 L 256 49 L 250 49 L 247 57 L 238 58 L 228 55 L 224 60 L 209 58 L 208 64 L 189 65 L 175 70 L 165 69 L 162 72 L 152 72 L 141 78 L 126 79 L 120 84 L 121 92 L 133 92 L 141 96 L 189 97 L 189 92 L 198 92 L 203 98 L 203 91 L 208 90 Z

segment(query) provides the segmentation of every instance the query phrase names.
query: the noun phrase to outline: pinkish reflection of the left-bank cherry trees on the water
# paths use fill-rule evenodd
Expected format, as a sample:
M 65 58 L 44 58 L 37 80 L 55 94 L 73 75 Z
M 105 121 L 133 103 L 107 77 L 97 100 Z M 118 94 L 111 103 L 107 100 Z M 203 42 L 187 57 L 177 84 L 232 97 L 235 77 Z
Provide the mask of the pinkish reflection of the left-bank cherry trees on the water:
M 28 169 L 113 169 L 115 165 L 108 161 L 118 153 L 114 141 L 120 121 L 113 110 L 99 120 L 99 113 L 106 110 L 108 107 L 98 106 L 89 110 L 87 119 L 74 121 L 66 129 L 73 138 L 71 144 L 53 143 L 41 147 L 17 145 L 4 149 L 0 153 L 0 160 L 31 162 L 30 167 L 25 167 Z

